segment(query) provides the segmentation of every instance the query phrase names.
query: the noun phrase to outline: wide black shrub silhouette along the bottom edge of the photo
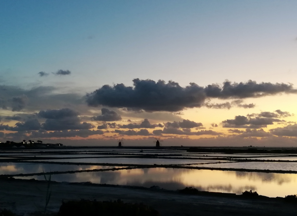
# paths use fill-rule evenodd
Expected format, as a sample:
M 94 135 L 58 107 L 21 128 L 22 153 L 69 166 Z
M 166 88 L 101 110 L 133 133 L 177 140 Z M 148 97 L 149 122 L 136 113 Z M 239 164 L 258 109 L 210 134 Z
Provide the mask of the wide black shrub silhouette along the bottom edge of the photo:
M 118 201 L 69 201 L 63 202 L 58 216 L 158 216 L 157 210 L 142 203 L 131 204 Z

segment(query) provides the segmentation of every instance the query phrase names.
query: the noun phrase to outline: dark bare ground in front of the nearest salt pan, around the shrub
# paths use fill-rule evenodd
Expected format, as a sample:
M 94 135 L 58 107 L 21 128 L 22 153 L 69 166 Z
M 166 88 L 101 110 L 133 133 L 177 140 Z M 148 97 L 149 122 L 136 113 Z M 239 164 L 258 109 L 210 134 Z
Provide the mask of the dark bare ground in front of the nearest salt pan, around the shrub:
M 48 213 L 58 212 L 62 200 L 97 199 L 117 200 L 150 205 L 162 216 L 174 215 L 296 215 L 297 204 L 287 204 L 275 198 L 244 199 L 183 195 L 162 191 L 121 187 L 98 187 L 53 183 Z M 0 180 L 0 208 L 7 208 L 18 215 L 43 211 L 47 184 L 42 181 Z M 273 190 L 271 188 L 271 190 Z

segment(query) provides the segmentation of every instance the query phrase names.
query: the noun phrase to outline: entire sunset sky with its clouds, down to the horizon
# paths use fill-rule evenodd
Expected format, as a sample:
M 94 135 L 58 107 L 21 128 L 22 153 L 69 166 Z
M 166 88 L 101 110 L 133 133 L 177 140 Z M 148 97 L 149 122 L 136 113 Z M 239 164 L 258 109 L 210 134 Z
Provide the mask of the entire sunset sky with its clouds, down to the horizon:
M 0 141 L 297 147 L 296 1 L 1 1 Z

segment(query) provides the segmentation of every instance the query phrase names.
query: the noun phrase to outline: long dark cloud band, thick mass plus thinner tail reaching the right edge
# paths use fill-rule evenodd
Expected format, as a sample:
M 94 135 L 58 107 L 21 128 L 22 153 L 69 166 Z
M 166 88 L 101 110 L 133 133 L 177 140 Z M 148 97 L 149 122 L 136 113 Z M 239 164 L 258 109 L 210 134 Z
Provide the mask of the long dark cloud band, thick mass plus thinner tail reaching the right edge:
M 263 97 L 278 93 L 297 93 L 291 84 L 284 83 L 231 83 L 225 81 L 223 86 L 212 84 L 206 87 L 190 83 L 181 87 L 178 83 L 159 80 L 134 79 L 133 86 L 116 84 L 104 85 L 87 94 L 89 106 L 105 105 L 109 107 L 129 108 L 145 111 L 181 111 L 184 108 L 201 107 L 206 98 L 232 99 Z M 251 105 L 242 105 L 249 108 Z

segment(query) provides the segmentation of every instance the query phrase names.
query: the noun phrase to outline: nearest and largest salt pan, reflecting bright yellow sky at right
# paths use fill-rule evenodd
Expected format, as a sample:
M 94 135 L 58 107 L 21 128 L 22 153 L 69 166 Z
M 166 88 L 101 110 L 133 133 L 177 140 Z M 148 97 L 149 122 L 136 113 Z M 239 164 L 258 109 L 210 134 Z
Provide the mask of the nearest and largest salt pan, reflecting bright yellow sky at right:
M 16 177 L 43 180 L 43 176 Z M 241 194 L 245 190 L 257 191 L 269 197 L 297 194 L 297 174 L 191 170 L 173 168 L 144 168 L 51 176 L 58 182 L 88 182 L 113 185 L 159 186 L 177 190 L 195 187 L 199 190 Z

